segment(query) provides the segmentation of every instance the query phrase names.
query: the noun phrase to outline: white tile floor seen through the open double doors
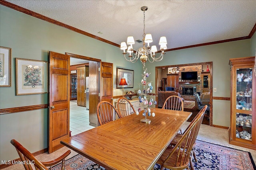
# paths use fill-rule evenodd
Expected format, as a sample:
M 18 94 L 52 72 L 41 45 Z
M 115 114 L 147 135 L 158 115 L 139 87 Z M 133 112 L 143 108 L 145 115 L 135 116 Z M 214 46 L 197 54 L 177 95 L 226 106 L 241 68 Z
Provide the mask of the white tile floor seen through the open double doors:
M 89 110 L 86 110 L 86 107 L 77 106 L 76 102 L 71 101 L 69 125 L 69 129 L 72 131 L 72 136 L 94 128 L 93 126 L 89 125 Z

